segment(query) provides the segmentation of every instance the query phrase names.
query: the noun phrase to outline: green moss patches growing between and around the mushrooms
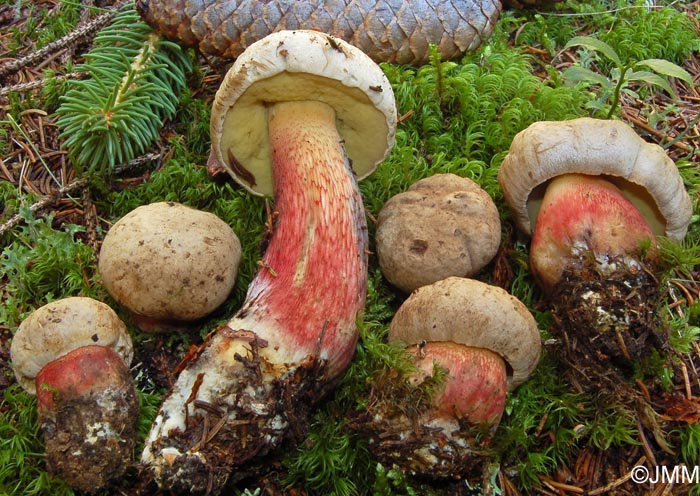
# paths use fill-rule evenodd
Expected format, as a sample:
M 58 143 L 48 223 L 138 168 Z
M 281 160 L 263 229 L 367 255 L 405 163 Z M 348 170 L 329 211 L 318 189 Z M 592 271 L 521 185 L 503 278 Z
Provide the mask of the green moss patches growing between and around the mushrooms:
M 56 20 L 45 37 L 40 27 L 42 22 L 50 21 L 38 22 L 40 14 L 31 12 L 35 18 L 10 36 L 18 46 L 27 39 L 41 45 L 61 36 L 75 24 L 78 7 L 58 7 L 63 19 Z M 388 160 L 360 185 L 368 212 L 376 216 L 391 196 L 432 174 L 452 172 L 479 182 L 496 201 L 503 221 L 507 251 L 502 261 L 509 275 L 499 282 L 526 304 L 542 337 L 548 339 L 552 315 L 542 305 L 542 294 L 529 271 L 527 242 L 512 232 L 510 214 L 496 179 L 498 167 L 515 134 L 532 122 L 589 114 L 595 95 L 580 86 L 564 85 L 558 65 L 561 59 L 553 58 L 571 38 L 581 34 L 598 37 L 625 59 L 656 57 L 681 64 L 698 50 L 699 38 L 690 21 L 686 13 L 671 7 L 647 11 L 624 0 L 569 0 L 556 3 L 548 12 L 504 11 L 491 39 L 459 61 L 440 61 L 433 54 L 432 63 L 420 68 L 384 65 L 404 118 Z M 536 53 L 529 50 L 533 46 L 544 50 L 542 59 L 532 55 Z M 591 54 L 581 56 L 582 63 L 600 65 Z M 48 71 L 44 74 L 47 84 L 41 95 L 11 94 L 8 115 L 21 122 L 20 114 L 27 108 L 55 108 L 58 96 L 72 85 L 57 83 L 52 76 Z M 196 70 L 188 77 L 190 89 L 180 91 L 177 101 L 172 101 L 176 117 L 165 119 L 165 129 L 159 129 L 161 137 L 168 136 L 163 143 L 168 160 L 153 172 L 146 168 L 138 171 L 145 181 L 137 187 L 116 181 L 118 188 L 105 188 L 99 194 L 95 190 L 93 196 L 106 223 L 146 203 L 177 201 L 215 213 L 232 226 L 243 244 L 243 265 L 234 294 L 221 314 L 204 323 L 202 332 L 207 332 L 223 318 L 221 315 L 230 315 L 243 301 L 261 257 L 259 243 L 266 205 L 264 199 L 252 197 L 230 182 L 215 183 L 207 176 L 204 164 L 209 151 L 211 88 L 202 89 L 206 83 Z M 9 119 L 0 123 L 3 156 L 11 151 L 9 137 L 16 131 L 9 123 Z M 692 155 L 678 165 L 696 215 L 683 244 L 664 245 L 669 267 L 665 280 L 671 284 L 696 277 L 700 264 L 700 172 Z M 109 301 L 95 274 L 94 253 L 81 241 L 80 227 L 53 225 L 50 215 L 34 218 L 21 207 L 31 204 L 33 198 L 9 183 L 0 183 L 0 201 L 5 218 L 22 209 L 25 220 L 4 240 L 0 266 L 0 321 L 4 325 L 13 329 L 28 312 L 62 296 L 85 294 Z M 371 222 L 370 235 L 373 248 Z M 489 268 L 480 278 L 490 282 L 496 278 L 491 272 Z M 377 464 L 365 442 L 346 428 L 347 418 L 366 406 L 378 377 L 392 369 L 399 373 L 411 369 L 403 350 L 386 343 L 391 317 L 405 298 L 384 281 L 376 256 L 370 256 L 367 304 L 359 323 L 355 359 L 333 395 L 312 417 L 308 441 L 284 454 L 287 484 L 302 486 L 310 495 L 449 492 L 440 484 L 427 484 Z M 700 304 L 684 305 L 681 310 L 683 313 L 669 312 L 665 318 L 671 344 L 683 354 L 697 344 Z M 148 339 L 140 333 L 135 335 L 136 342 Z M 170 345 L 182 349 L 177 342 L 167 341 L 166 346 Z M 655 369 L 666 387 L 671 384 L 673 377 L 667 363 L 658 360 L 647 365 Z M 160 393 L 154 388 L 140 393 L 141 441 L 156 414 Z M 630 411 L 610 398 L 577 393 L 563 374 L 563 365 L 545 353 L 533 377 L 509 395 L 506 414 L 493 440 L 495 462 L 504 473 L 519 474 L 515 482 L 520 490 L 534 491 L 540 476 L 551 474 L 562 464 L 570 466 L 583 448 L 636 445 L 637 429 Z M 0 404 L 0 439 L 0 493 L 72 494 L 45 473 L 34 399 L 16 385 L 5 391 Z M 696 425 L 674 424 L 669 440 L 679 460 L 689 465 L 698 463 L 700 429 Z M 478 488 L 469 488 L 466 482 L 460 490 L 479 494 Z

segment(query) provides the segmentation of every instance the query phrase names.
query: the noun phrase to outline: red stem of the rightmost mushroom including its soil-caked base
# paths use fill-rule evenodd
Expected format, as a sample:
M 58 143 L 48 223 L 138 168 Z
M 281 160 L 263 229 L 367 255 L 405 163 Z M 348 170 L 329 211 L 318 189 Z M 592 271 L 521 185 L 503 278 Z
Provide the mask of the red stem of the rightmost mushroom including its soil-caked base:
M 624 372 L 666 346 L 655 243 L 644 215 L 608 178 L 564 174 L 547 185 L 530 261 L 575 368 Z

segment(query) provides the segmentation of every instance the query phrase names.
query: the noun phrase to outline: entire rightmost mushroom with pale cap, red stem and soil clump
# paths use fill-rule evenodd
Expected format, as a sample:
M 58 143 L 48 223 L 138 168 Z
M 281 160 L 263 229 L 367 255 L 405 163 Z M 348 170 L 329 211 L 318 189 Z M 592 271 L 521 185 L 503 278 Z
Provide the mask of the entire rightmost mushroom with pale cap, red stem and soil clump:
M 498 179 L 572 359 L 628 366 L 664 348 L 656 238 L 681 240 L 692 213 L 664 150 L 620 121 L 537 122 Z

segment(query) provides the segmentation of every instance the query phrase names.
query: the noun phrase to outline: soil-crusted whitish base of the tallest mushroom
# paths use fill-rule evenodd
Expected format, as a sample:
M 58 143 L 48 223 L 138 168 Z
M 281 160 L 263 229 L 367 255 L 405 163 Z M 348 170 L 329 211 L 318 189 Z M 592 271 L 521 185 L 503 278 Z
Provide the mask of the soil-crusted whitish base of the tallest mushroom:
M 308 410 L 322 395 L 314 386 L 324 384 L 323 363 L 309 357 L 297 364 L 273 364 L 264 357 L 265 348 L 267 343 L 252 332 L 222 326 L 196 364 L 182 372 L 179 384 L 191 387 L 184 399 L 185 428 L 155 437 L 169 420 L 161 418 L 148 441 L 147 456 L 158 454 L 153 458 L 162 461 L 154 467 L 159 485 L 178 494 L 217 494 L 228 482 L 254 475 L 259 467 L 247 465 L 253 459 L 285 440 L 303 439 Z M 211 387 L 202 386 L 205 376 L 215 376 L 207 368 L 221 374 L 218 399 L 201 399 Z M 180 400 L 171 396 L 164 409 Z

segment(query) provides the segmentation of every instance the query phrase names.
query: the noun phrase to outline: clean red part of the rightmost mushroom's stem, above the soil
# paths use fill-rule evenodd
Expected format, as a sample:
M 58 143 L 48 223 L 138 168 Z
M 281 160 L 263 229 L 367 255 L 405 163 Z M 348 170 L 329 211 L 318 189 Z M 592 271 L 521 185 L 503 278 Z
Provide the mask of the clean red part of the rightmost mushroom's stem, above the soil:
M 605 178 L 564 174 L 547 185 L 531 244 L 531 265 L 551 292 L 567 268 L 591 259 L 602 272 L 640 268 L 654 234 L 642 213 Z M 622 266 L 620 265 L 622 263 Z

